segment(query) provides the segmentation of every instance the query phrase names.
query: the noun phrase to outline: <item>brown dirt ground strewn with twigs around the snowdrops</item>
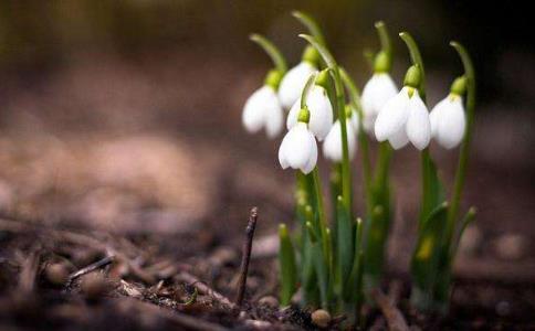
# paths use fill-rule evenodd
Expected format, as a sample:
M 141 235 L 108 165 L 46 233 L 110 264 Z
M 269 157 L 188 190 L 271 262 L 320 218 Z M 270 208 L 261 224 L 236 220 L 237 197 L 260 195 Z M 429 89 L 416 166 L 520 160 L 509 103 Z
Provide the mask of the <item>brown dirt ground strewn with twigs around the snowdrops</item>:
M 274 298 L 273 235 L 292 222 L 293 175 L 276 163 L 280 139 L 248 136 L 240 122 L 263 72 L 244 68 L 240 55 L 198 54 L 88 54 L 2 79 L 1 330 L 315 328 L 308 311 L 280 310 Z M 430 99 L 439 97 L 431 89 Z M 384 290 L 398 289 L 413 328 L 535 329 L 535 118 L 516 108 L 478 109 L 464 207 L 479 213 L 445 319 L 407 302 L 418 157 L 395 156 Z M 432 153 L 451 179 L 454 153 Z M 252 206 L 259 224 L 240 312 L 233 300 Z M 366 325 L 381 330 L 386 320 L 368 309 Z

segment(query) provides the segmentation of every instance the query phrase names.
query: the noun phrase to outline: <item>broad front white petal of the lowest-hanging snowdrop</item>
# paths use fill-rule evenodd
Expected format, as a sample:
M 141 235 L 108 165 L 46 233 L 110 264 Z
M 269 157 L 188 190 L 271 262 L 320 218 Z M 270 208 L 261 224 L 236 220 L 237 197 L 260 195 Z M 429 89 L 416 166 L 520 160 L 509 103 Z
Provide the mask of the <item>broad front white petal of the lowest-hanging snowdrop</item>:
M 300 169 L 307 163 L 312 152 L 311 135 L 304 122 L 298 122 L 287 132 L 284 154 L 290 167 Z

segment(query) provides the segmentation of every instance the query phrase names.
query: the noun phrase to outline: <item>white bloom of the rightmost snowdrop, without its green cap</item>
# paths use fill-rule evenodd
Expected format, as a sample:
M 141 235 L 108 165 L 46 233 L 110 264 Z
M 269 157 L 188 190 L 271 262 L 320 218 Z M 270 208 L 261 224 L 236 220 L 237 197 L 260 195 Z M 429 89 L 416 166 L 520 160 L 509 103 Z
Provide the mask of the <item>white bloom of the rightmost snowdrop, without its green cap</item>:
M 447 149 L 457 147 L 464 137 L 466 119 L 462 97 L 450 94 L 438 103 L 431 114 L 431 136 Z

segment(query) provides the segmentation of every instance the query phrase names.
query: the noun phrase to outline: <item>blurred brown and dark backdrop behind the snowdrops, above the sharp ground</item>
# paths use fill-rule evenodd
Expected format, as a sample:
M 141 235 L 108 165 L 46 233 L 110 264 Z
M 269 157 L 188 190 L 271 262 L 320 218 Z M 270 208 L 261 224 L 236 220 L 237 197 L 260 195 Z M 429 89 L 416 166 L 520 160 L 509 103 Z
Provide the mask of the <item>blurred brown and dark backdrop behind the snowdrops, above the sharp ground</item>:
M 317 18 L 360 86 L 369 76 L 363 50 L 378 44 L 374 22 L 390 28 L 397 82 L 408 55 L 396 33 L 411 32 L 430 105 L 461 72 L 448 42 L 465 44 L 480 82 L 465 195 L 480 210 L 471 241 L 484 237 L 475 247 L 499 254 L 512 242 L 504 258 L 528 258 L 535 50 L 514 1 L 2 1 L 1 209 L 133 233 L 207 225 L 223 241 L 241 233 L 251 205 L 263 233 L 290 221 L 293 174 L 276 163 L 280 139 L 248 136 L 240 115 L 270 67 L 248 35 L 268 35 L 295 64 L 304 43 L 293 9 Z M 455 153 L 433 154 L 451 179 Z M 413 232 L 417 164 L 409 148 L 395 160 L 401 234 Z

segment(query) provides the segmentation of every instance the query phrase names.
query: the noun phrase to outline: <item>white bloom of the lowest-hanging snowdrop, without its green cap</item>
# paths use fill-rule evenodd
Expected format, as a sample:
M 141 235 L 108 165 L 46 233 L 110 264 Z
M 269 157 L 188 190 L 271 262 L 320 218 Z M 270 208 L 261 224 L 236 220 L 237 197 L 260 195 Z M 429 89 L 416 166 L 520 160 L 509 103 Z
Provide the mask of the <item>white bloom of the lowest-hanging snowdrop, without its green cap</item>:
M 316 140 L 305 122 L 300 121 L 284 136 L 279 148 L 279 162 L 282 169 L 292 167 L 301 169 L 304 174 L 316 167 Z

